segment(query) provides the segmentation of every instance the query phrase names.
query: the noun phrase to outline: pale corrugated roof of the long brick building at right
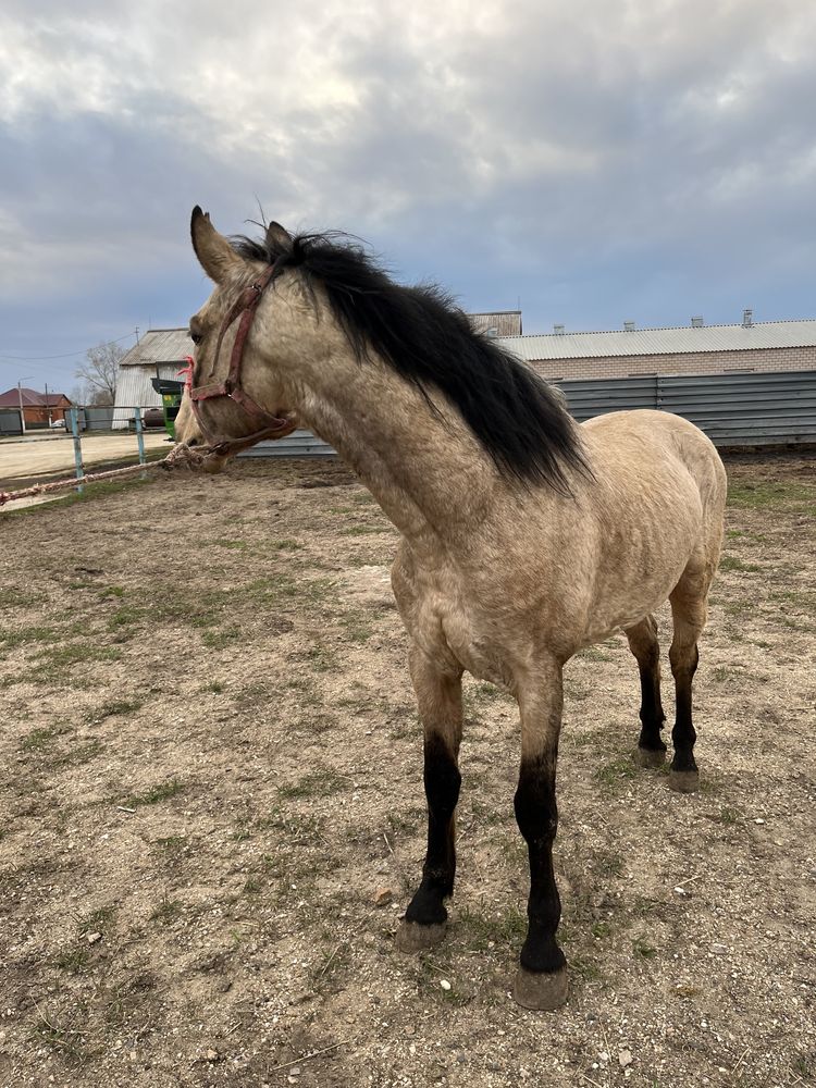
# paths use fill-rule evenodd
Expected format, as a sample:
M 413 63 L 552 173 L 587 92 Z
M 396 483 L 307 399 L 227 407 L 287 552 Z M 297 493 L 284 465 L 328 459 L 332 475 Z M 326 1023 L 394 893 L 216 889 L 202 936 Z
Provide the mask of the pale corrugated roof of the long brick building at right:
M 816 347 L 816 320 L 758 321 L 752 325 L 635 329 L 632 332 L 503 336 L 502 344 L 527 362 L 625 355 L 684 355 L 690 351 L 753 351 L 758 348 Z

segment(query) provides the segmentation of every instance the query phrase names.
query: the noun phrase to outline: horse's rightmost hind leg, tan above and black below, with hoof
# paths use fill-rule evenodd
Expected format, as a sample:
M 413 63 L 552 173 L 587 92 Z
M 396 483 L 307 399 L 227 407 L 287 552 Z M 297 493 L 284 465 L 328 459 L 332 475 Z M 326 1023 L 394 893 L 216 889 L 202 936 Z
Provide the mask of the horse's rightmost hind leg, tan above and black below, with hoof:
M 705 627 L 709 583 L 708 574 L 687 568 L 669 595 L 675 621 L 669 662 L 677 694 L 675 728 L 671 731 L 675 757 L 669 770 L 669 786 L 679 793 L 693 793 L 700 787 L 694 761 L 697 734 L 692 721 L 691 688 L 700 659 L 697 640 Z

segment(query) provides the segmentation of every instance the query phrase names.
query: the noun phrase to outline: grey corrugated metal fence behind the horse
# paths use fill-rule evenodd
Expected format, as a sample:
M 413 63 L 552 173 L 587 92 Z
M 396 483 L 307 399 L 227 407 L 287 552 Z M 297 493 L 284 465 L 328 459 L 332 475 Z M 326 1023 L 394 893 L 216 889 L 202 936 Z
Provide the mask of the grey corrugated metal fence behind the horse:
M 718 446 L 816 442 L 816 370 L 779 373 L 659 374 L 554 382 L 579 422 L 629 408 L 676 412 L 696 423 Z M 310 431 L 260 442 L 242 457 L 331 456 Z

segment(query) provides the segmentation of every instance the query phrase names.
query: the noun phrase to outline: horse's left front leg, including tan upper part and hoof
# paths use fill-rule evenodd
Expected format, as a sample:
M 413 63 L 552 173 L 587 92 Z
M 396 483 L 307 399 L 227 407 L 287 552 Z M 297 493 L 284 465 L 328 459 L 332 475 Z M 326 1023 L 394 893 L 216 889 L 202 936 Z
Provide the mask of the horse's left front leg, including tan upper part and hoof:
M 454 891 L 454 814 L 461 783 L 458 767 L 462 722 L 461 671 L 441 669 L 416 646 L 410 652 L 410 669 L 424 730 L 428 852 L 422 867 L 422 882 L 408 904 L 397 934 L 397 944 L 404 952 L 432 948 L 445 936 L 447 911 L 444 900 Z

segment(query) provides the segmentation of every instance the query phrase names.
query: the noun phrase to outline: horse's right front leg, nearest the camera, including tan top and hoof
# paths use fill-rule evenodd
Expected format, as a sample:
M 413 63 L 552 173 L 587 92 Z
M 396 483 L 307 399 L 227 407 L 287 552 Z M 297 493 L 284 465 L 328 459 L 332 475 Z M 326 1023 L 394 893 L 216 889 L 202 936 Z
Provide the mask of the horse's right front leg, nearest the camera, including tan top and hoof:
M 521 949 L 514 997 L 527 1009 L 557 1009 L 567 1000 L 567 967 L 555 934 L 561 901 L 553 871 L 558 828 L 555 771 L 561 728 L 561 667 L 536 669 L 518 684 L 521 710 L 521 769 L 516 820 L 530 855 L 528 932 Z

